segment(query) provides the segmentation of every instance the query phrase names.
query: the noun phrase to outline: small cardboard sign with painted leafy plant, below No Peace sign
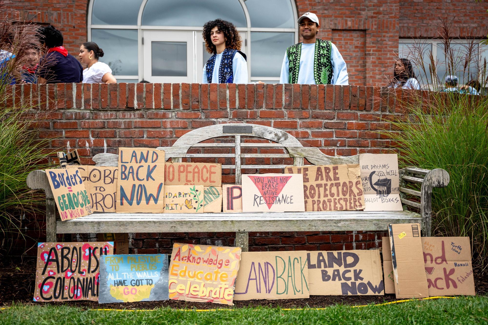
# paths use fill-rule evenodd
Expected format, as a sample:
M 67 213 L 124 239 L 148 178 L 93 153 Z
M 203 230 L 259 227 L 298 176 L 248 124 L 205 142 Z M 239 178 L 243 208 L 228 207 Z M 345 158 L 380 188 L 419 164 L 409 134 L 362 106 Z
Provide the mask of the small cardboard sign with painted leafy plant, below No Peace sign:
M 203 185 L 164 186 L 163 213 L 203 213 Z

